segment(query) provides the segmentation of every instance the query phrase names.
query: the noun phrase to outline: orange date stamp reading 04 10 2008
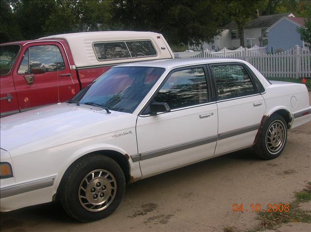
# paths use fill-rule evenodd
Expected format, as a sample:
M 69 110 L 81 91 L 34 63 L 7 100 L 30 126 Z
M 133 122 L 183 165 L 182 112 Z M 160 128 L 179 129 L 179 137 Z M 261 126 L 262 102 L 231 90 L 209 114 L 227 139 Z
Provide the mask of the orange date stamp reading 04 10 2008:
M 290 205 L 287 203 L 286 204 L 268 203 L 266 209 L 262 209 L 261 205 L 259 203 L 257 203 L 257 204 L 252 203 L 249 206 L 250 206 L 249 208 L 246 208 L 245 204 L 238 205 L 235 203 L 232 205 L 232 211 L 234 213 L 236 213 L 236 212 L 243 213 L 244 211 L 245 212 L 248 212 L 248 211 L 257 212 L 257 213 L 259 213 L 260 211 L 271 212 L 271 213 L 273 213 L 273 212 L 274 213 L 276 213 L 276 212 L 286 212 L 287 213 L 290 211 Z

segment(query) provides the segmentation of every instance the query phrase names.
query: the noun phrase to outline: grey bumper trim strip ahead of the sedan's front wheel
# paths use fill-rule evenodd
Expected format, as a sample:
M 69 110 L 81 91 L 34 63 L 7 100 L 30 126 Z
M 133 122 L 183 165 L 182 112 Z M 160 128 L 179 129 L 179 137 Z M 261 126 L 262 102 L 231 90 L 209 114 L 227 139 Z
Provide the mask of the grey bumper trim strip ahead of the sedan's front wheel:
M 56 176 L 45 177 L 34 181 L 18 183 L 0 189 L 0 198 L 6 198 L 21 193 L 52 186 Z

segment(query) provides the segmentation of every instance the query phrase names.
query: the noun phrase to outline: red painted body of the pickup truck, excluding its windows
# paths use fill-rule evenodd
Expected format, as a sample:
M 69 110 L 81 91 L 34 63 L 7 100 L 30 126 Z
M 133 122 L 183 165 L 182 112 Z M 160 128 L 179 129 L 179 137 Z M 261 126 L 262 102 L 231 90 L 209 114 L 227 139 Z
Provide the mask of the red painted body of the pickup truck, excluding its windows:
M 29 40 L 1 44 L 19 45 L 21 49 L 14 66 L 7 75 L 0 77 L 0 113 L 1 116 L 11 115 L 38 106 L 44 106 L 71 99 L 81 88 L 103 74 L 111 66 L 75 69 L 73 58 L 65 40 Z M 29 47 L 55 45 L 60 50 L 65 63 L 61 71 L 32 74 L 33 84 L 28 84 L 24 76 L 18 74 L 23 55 Z

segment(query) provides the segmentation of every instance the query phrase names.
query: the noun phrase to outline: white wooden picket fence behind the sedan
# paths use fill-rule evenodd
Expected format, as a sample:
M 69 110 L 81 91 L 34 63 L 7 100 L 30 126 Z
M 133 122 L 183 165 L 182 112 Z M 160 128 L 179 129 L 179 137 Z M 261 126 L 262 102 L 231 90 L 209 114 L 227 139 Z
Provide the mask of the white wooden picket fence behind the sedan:
M 184 53 L 187 53 L 187 56 L 186 54 L 182 56 L 179 54 L 175 58 L 236 58 L 249 62 L 265 77 L 311 78 L 311 52 L 299 48 L 298 45 L 294 49 L 276 54 L 264 54 L 247 48 L 232 53 L 211 53 L 208 51 L 200 51 L 196 54 L 193 54 L 194 52 Z

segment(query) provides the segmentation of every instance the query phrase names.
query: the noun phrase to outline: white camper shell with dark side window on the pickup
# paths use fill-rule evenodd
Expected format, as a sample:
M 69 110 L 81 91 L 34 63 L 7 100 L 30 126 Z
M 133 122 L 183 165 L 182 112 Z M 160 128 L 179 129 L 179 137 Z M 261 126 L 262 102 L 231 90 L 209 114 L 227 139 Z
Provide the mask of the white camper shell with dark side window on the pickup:
M 174 58 L 163 35 L 154 32 L 87 32 L 41 39 L 66 40 L 77 68 Z

